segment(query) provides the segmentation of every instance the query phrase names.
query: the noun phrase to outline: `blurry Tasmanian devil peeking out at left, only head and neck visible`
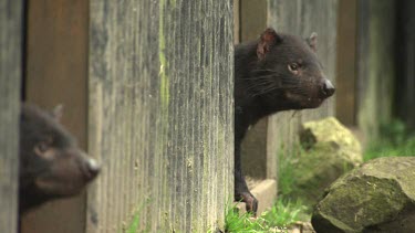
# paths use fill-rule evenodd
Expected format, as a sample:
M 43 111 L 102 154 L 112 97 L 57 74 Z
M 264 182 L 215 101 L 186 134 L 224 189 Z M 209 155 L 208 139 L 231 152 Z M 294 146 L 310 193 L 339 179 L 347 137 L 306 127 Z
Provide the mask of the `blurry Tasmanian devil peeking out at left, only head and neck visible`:
M 100 171 L 59 124 L 61 107 L 46 113 L 23 104 L 20 114 L 19 213 L 77 194 Z

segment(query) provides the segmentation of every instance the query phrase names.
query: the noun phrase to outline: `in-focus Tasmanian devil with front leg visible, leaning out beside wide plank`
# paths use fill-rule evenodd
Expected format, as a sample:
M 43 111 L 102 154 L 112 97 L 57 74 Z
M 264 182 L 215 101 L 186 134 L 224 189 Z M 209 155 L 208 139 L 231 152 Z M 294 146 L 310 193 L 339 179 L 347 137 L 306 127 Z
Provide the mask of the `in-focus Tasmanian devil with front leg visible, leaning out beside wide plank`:
M 241 171 L 240 147 L 249 126 L 280 110 L 315 108 L 333 95 L 317 55 L 317 34 L 307 40 L 267 29 L 235 47 L 235 200 L 256 214 L 257 199 Z

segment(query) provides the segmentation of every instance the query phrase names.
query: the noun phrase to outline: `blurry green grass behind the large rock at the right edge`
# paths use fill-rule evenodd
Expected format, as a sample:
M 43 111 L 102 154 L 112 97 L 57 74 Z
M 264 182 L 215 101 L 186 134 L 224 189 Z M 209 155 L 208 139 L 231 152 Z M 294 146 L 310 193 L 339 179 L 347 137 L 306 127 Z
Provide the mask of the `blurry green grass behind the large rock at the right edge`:
M 369 142 L 363 159 L 396 156 L 415 156 L 415 136 L 408 134 L 404 123 L 394 119 L 381 125 L 380 137 Z

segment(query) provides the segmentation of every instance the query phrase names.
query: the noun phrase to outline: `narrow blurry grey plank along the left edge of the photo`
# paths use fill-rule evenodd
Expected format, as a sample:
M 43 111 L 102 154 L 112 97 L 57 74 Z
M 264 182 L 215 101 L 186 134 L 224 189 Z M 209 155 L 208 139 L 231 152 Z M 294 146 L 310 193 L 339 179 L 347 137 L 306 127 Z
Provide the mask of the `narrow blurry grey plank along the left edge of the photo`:
M 0 232 L 17 232 L 22 1 L 0 2 Z

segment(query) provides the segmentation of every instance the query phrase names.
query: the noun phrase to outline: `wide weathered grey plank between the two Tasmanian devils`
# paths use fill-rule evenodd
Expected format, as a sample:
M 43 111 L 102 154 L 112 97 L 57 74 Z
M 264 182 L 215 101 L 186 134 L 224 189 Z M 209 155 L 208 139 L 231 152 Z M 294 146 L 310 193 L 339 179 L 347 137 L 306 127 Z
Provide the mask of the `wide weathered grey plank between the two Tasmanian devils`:
M 234 193 L 232 1 L 91 1 L 87 232 L 224 224 Z

